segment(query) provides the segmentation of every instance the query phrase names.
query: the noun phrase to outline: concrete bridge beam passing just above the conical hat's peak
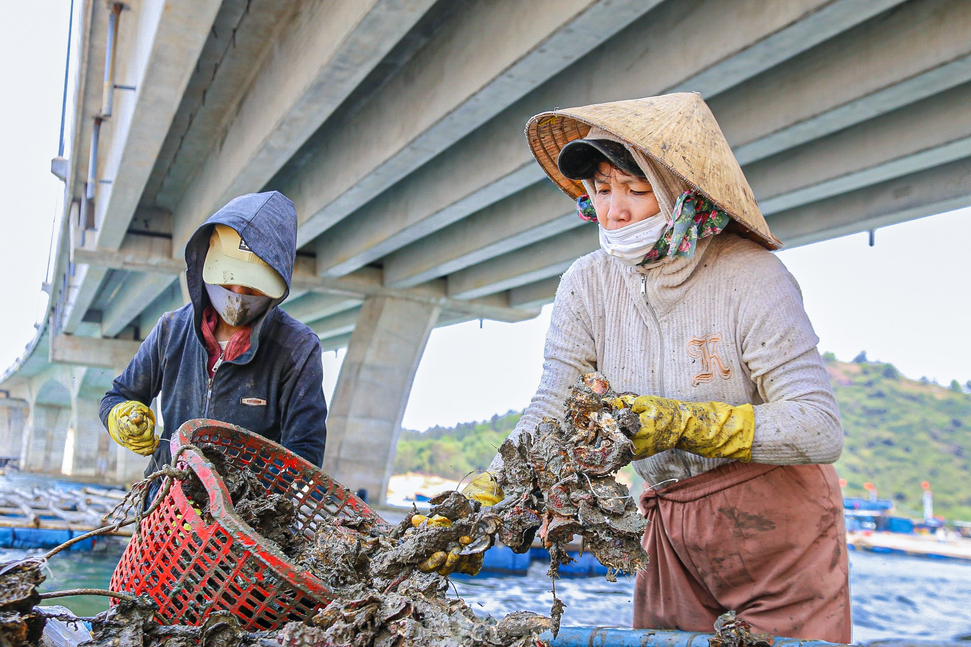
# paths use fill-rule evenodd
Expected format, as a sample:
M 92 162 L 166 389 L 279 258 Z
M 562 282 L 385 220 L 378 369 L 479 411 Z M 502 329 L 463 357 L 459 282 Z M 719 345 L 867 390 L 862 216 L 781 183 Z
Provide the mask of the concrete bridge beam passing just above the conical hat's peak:
M 664 3 L 388 188 L 353 218 L 334 225 L 318 240 L 318 270 L 329 276 L 348 274 L 545 178 L 522 142 L 523 124 L 535 113 L 553 106 L 651 96 L 672 88 L 709 95 L 722 89 L 722 74 L 739 81 L 754 76 L 820 42 L 817 38 L 897 1 L 861 6 L 848 0 L 800 0 L 782 3 L 771 12 L 757 0 Z M 731 27 L 720 32 L 717 42 L 698 48 L 698 24 Z M 613 72 L 643 68 L 646 49 L 651 74 L 631 77 Z M 705 72 L 699 76 L 698 70 Z M 464 132 L 469 129 L 466 124 Z M 291 183 L 301 190 L 332 190 L 319 178 L 312 182 L 302 173 Z M 307 230 L 308 235 L 314 231 Z

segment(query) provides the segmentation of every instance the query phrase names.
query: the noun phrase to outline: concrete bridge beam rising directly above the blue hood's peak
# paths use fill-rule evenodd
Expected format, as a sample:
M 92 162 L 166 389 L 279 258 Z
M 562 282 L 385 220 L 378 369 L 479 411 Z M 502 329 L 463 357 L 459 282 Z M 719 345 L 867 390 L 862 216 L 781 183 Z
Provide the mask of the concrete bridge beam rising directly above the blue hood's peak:
M 297 12 L 186 189 L 176 210 L 176 249 L 219 207 L 273 178 L 433 4 L 360 0 L 310 3 Z

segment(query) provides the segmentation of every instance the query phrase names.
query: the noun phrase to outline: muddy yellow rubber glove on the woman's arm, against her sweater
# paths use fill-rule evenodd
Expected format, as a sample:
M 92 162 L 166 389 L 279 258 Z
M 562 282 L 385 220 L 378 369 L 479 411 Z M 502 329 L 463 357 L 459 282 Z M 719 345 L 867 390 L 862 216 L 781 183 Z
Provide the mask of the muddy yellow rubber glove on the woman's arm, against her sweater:
M 631 441 L 637 458 L 677 448 L 705 458 L 752 458 L 755 413 L 752 404 L 685 403 L 657 396 L 620 396 L 615 406 L 641 419 Z

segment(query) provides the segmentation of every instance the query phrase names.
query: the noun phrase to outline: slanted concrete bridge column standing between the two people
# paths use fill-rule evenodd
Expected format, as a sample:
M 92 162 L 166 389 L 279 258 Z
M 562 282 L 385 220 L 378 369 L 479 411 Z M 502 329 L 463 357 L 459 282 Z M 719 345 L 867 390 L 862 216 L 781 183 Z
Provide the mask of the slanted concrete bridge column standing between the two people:
M 323 469 L 383 503 L 415 372 L 441 308 L 370 297 L 357 317 L 327 416 Z

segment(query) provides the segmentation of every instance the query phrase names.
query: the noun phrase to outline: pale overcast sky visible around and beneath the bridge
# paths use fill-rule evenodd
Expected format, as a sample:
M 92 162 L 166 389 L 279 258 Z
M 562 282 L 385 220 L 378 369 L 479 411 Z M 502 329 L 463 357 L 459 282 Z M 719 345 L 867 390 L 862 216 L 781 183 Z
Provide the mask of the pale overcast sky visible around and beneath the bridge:
M 57 154 L 67 0 L 8 3 L 0 22 L 0 372 L 34 336 L 46 304 L 53 219 L 62 183 L 50 175 Z M 525 146 L 525 144 L 523 144 Z M 967 241 L 971 210 L 922 218 L 865 234 L 780 252 L 802 286 L 820 350 L 850 360 L 860 350 L 910 377 L 941 383 L 971 379 Z M 519 409 L 539 382 L 550 307 L 518 324 L 469 322 L 435 330 L 419 366 L 404 426 L 485 419 Z M 343 351 L 324 354 L 329 395 Z

